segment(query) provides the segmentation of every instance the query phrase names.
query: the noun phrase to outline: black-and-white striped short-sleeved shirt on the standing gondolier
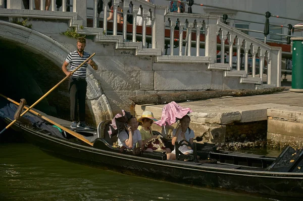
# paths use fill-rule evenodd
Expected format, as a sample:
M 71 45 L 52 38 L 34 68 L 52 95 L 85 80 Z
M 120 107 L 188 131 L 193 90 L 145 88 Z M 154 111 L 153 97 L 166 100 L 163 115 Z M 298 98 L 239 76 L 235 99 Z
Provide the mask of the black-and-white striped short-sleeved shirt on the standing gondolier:
M 81 57 L 78 51 L 70 52 L 65 61 L 71 64 L 70 72 L 74 71 L 83 61 L 85 61 L 90 56 L 90 53 L 83 51 L 83 56 Z M 73 78 L 86 78 L 86 68 L 87 62 L 84 63 L 77 71 L 72 75 Z

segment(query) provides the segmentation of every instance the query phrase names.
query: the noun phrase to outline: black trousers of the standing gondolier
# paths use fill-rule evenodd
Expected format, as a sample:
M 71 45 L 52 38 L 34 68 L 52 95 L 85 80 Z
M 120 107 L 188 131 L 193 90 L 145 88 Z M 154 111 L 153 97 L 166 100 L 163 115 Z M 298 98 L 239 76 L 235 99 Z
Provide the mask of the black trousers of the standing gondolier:
M 85 98 L 87 82 L 83 78 L 70 78 L 69 93 L 71 100 L 71 120 L 75 121 L 79 103 L 79 121 L 85 121 Z

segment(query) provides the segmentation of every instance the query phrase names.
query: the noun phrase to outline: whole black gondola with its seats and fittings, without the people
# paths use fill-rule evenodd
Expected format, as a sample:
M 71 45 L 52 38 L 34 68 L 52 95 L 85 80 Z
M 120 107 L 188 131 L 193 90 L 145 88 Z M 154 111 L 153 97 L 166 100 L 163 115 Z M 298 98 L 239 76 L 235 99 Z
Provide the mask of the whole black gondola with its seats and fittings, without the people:
M 13 108 L 13 105 L 7 104 L 6 107 Z M 3 111 L 0 107 L 0 116 Z M 40 118 L 29 112 L 26 115 L 25 118 Z M 63 119 L 51 116 L 48 118 L 66 127 L 70 125 L 70 122 Z M 1 119 L 8 124 L 14 120 L 6 115 L 2 115 Z M 303 197 L 303 173 L 300 168 L 303 166 L 302 150 L 287 147 L 278 157 L 267 157 L 220 151 L 210 143 L 193 143 L 194 154 L 186 156 L 187 160 L 181 155 L 179 160 L 166 160 L 164 152 L 134 153 L 133 150 L 115 147 L 113 143 L 117 138 L 109 137 L 109 121 L 99 123 L 97 128 L 74 130 L 91 142 L 91 146 L 43 119 L 40 120 L 39 123 L 32 124 L 18 120 L 11 127 L 40 149 L 69 160 L 129 175 L 234 192 L 263 194 L 266 197 L 278 197 L 279 200 L 296 200 Z M 42 124 L 48 128 L 41 127 Z M 181 145 L 176 145 L 176 148 Z

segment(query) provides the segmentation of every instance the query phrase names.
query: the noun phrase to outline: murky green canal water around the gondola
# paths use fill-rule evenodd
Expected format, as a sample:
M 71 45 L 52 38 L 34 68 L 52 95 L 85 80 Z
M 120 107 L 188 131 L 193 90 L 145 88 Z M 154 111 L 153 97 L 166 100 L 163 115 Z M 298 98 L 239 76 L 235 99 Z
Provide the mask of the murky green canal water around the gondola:
M 268 153 L 278 155 L 279 151 Z M 264 153 L 263 153 L 264 154 Z M 0 143 L 0 200 L 279 200 L 123 175 Z

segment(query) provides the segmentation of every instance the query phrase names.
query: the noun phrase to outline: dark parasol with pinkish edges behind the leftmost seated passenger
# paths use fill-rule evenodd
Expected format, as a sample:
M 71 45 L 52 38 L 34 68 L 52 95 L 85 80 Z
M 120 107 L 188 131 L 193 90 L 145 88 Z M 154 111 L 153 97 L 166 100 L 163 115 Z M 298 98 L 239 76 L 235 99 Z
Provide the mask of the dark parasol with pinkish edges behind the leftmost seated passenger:
M 119 130 L 125 129 L 124 125 L 127 123 L 127 120 L 131 118 L 130 112 L 122 110 L 122 114 L 116 114 L 113 118 L 112 123 L 110 124 L 109 135 L 115 136 Z

